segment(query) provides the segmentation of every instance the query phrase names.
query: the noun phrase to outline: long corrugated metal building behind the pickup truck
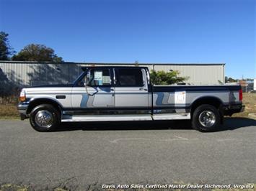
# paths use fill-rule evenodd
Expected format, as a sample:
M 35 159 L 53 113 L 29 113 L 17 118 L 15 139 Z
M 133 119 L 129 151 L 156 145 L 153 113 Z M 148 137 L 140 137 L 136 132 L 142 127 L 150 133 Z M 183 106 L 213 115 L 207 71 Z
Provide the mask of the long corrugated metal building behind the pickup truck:
M 19 86 L 69 83 L 81 73 L 81 66 L 89 65 L 139 65 L 149 70 L 178 70 L 180 76 L 188 77 L 190 85 L 219 85 L 224 83 L 224 63 L 219 64 L 157 64 L 157 63 L 79 63 L 79 62 L 13 62 L 0 61 L 0 68 L 10 81 Z

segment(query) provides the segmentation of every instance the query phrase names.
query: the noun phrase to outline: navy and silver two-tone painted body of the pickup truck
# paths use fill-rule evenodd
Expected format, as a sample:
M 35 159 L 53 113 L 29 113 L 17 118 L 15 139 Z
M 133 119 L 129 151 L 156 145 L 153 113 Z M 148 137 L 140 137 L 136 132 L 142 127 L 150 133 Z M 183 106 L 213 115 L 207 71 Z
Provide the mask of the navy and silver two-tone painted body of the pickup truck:
M 79 116 L 79 119 L 87 116 L 86 121 L 93 121 L 94 117 L 107 118 L 105 115 L 125 120 L 129 116 L 141 116 L 145 120 L 190 118 L 193 106 L 203 101 L 219 103 L 224 114 L 236 113 L 243 108 L 239 85 L 151 85 L 147 67 L 125 67 L 141 70 L 144 82 L 138 87 L 125 87 L 117 83 L 118 69 L 123 67 L 97 68 L 110 70 L 110 85 L 87 87 L 87 90 L 81 83 L 79 85 L 90 70 L 87 67 L 74 83 L 24 88 L 22 93 L 25 93 L 26 100 L 18 106 L 22 118 L 29 117 L 32 108 L 42 103 L 58 107 L 62 121 L 72 121 L 74 116 Z M 91 116 L 90 120 L 88 116 Z

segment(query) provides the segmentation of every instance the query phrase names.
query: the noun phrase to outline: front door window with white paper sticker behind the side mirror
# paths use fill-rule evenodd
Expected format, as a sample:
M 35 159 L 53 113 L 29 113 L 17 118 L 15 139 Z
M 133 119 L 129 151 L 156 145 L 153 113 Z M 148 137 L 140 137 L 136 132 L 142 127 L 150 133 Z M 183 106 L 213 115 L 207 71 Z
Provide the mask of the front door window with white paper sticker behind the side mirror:
M 87 78 L 87 79 L 86 79 Z M 89 70 L 87 75 L 82 80 L 82 83 L 87 81 L 89 86 L 108 86 L 111 85 L 110 70 L 108 69 L 93 69 Z

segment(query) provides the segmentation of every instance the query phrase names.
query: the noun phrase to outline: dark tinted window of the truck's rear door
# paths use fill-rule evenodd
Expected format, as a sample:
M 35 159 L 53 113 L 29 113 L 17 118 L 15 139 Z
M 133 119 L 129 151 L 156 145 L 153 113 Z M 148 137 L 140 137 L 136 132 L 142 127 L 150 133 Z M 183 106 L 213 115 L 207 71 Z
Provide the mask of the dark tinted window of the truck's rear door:
M 120 86 L 143 86 L 141 69 L 119 69 Z

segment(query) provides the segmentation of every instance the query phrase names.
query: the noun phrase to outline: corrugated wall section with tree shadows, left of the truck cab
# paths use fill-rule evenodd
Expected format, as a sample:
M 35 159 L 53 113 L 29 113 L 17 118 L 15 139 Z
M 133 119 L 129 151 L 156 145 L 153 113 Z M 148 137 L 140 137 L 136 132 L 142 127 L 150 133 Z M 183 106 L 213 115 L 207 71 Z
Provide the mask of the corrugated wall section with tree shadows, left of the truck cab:
M 81 73 L 78 64 L 0 62 L 7 78 L 19 86 L 69 83 Z

